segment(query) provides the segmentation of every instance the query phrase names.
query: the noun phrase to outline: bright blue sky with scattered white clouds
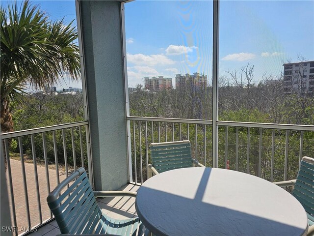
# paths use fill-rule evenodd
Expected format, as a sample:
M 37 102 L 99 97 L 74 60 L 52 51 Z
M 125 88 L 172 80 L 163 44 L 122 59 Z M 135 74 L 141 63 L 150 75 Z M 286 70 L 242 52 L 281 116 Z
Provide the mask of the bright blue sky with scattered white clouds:
M 74 0 L 32 2 L 53 20 L 76 19 Z M 132 1 L 125 19 L 129 87 L 145 76 L 199 72 L 211 78 L 212 1 Z M 314 60 L 314 1 L 221 0 L 219 31 L 219 76 L 248 63 L 255 81 L 264 72 L 276 76 L 282 61 Z M 57 87 L 68 86 L 81 83 Z

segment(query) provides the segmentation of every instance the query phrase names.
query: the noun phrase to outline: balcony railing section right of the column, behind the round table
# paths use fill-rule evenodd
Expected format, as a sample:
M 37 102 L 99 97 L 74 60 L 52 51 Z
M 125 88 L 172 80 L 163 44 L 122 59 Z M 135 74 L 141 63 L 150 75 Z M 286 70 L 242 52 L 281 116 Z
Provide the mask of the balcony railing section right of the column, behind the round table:
M 130 182 L 147 179 L 149 144 L 190 140 L 193 158 L 212 167 L 212 121 L 128 117 L 131 128 Z M 269 181 L 295 178 L 304 155 L 314 153 L 312 125 L 218 121 L 218 163 Z M 140 142 L 141 140 L 141 142 Z

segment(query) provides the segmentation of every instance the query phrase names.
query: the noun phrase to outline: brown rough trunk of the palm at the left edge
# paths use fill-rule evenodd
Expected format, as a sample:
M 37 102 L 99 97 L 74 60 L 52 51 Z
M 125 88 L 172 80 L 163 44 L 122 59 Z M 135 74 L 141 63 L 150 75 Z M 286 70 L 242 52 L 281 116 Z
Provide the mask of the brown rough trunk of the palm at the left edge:
M 9 107 L 9 101 L 6 99 L 1 98 L 1 113 L 0 113 L 0 123 L 1 123 L 1 134 L 2 133 L 7 133 L 7 132 L 12 132 L 13 131 L 13 119 L 11 115 L 11 109 Z M 8 140 L 8 146 L 10 147 L 11 145 L 11 139 Z M 4 140 L 1 142 L 3 150 L 4 148 Z M 4 151 L 4 166 L 6 170 L 6 152 Z

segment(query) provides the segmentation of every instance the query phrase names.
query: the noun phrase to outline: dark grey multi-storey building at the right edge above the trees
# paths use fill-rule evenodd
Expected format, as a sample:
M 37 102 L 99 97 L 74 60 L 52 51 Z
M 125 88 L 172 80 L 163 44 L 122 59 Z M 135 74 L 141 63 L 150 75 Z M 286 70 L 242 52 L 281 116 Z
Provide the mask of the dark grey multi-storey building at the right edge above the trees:
M 286 94 L 314 93 L 314 61 L 283 64 Z

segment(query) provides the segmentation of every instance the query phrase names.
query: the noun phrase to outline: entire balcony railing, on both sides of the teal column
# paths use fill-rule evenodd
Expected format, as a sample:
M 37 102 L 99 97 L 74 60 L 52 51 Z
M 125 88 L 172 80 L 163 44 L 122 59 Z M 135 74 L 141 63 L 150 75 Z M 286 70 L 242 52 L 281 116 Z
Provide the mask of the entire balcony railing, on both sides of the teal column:
M 149 144 L 153 142 L 190 140 L 193 157 L 200 163 L 208 167 L 216 163 L 215 167 L 269 181 L 294 178 L 302 156 L 314 153 L 314 128 L 310 125 L 218 121 L 216 162 L 212 157 L 211 120 L 144 117 L 127 120 L 130 182 L 135 184 L 147 179 Z M 88 121 L 1 135 L 7 157 L 13 226 L 30 230 L 52 220 L 46 197 L 76 168 L 85 167 L 93 183 L 88 137 Z M 17 143 L 18 153 L 10 151 L 9 142 Z

